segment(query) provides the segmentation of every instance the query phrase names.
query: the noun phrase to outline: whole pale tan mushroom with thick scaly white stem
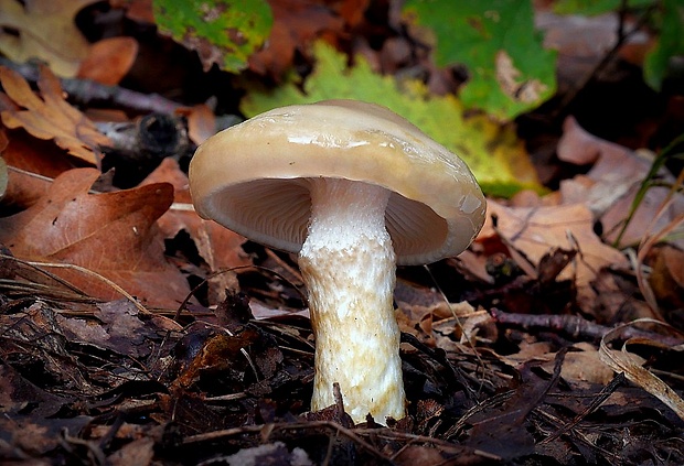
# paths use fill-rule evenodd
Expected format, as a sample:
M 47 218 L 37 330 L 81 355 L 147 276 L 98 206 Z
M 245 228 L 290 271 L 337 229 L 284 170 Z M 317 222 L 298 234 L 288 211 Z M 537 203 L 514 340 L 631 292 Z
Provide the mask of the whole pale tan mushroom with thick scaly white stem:
M 196 212 L 299 253 L 316 338 L 311 409 L 338 382 L 354 422 L 402 419 L 397 264 L 463 251 L 485 201 L 468 166 L 391 110 L 325 100 L 276 108 L 206 140 L 190 164 Z

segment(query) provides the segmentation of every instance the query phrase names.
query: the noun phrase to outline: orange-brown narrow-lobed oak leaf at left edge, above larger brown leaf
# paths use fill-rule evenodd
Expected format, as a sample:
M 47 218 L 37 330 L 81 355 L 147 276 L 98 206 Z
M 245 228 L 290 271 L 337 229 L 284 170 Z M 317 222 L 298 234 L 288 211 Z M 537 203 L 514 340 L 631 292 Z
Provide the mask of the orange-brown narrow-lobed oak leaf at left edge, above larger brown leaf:
M 23 128 L 39 139 L 54 139 L 70 154 L 92 164 L 98 164 L 98 145 L 110 144 L 85 115 L 67 104 L 62 96 L 60 80 L 46 67 L 41 67 L 39 97 L 29 83 L 6 67 L 0 67 L 0 83 L 12 101 L 24 110 L 3 110 L 0 116 L 9 129 Z

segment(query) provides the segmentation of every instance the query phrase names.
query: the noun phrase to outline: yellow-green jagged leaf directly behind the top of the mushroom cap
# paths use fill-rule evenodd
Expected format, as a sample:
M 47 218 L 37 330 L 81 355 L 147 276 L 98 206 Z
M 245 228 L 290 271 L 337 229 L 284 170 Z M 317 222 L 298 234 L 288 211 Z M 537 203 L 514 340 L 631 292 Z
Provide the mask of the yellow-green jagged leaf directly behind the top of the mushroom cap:
M 430 96 L 421 82 L 397 82 L 377 75 L 362 56 L 356 56 L 355 65 L 348 67 L 346 56 L 322 42 L 316 43 L 314 55 L 316 67 L 303 85 L 292 76 L 269 90 L 247 83 L 247 95 L 241 102 L 245 116 L 325 99 L 380 104 L 463 159 L 485 193 L 511 196 L 523 188 L 542 189 L 524 145 L 511 126 L 498 124 L 472 111 L 467 116 L 457 98 Z

